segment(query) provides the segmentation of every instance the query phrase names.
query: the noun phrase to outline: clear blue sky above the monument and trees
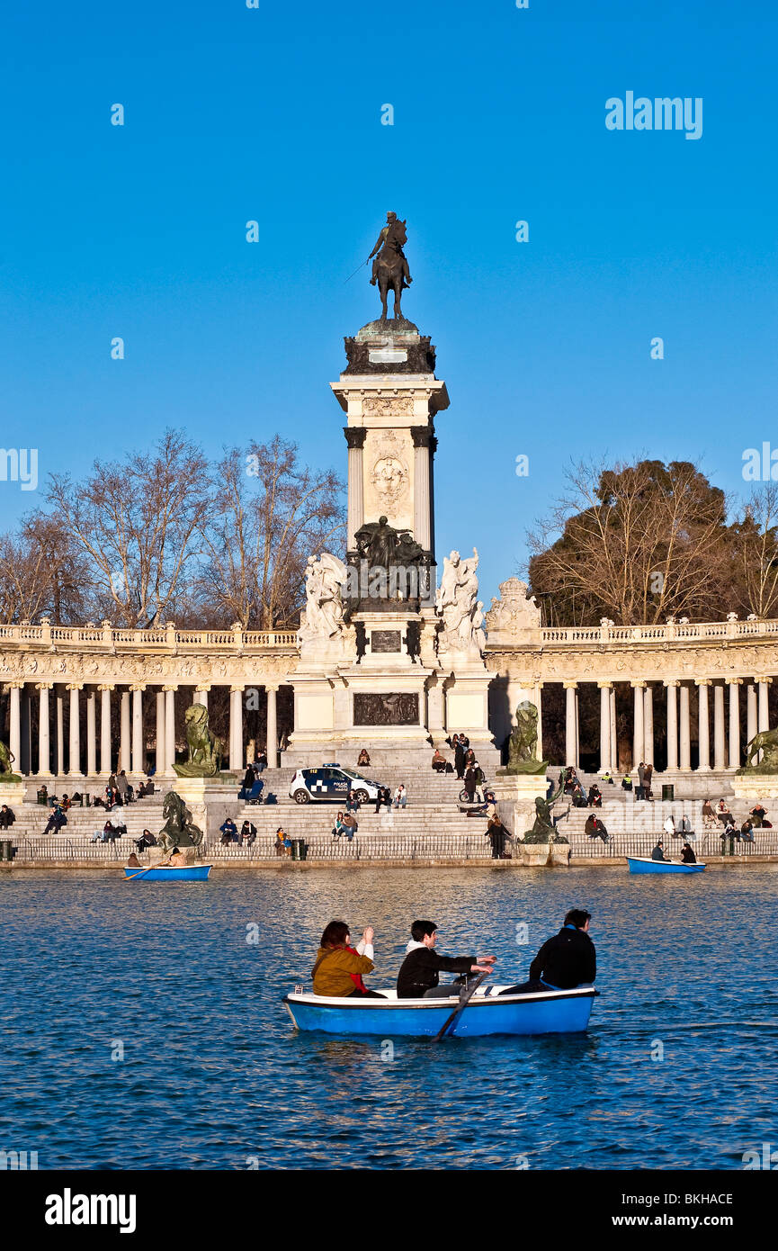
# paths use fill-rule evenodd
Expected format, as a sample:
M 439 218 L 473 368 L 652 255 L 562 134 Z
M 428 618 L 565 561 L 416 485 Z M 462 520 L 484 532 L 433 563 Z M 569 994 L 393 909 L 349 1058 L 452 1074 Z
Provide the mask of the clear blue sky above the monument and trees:
M 344 280 L 394 209 L 452 398 L 438 559 L 475 544 L 487 603 L 570 457 L 743 492 L 778 445 L 773 6 L 632 8 L 6 6 L 0 444 L 44 478 L 166 425 L 214 455 L 279 430 L 345 474 L 328 383 L 376 296 Z M 702 96 L 702 139 L 608 131 L 628 90 Z M 39 499 L 0 483 L 3 527 Z

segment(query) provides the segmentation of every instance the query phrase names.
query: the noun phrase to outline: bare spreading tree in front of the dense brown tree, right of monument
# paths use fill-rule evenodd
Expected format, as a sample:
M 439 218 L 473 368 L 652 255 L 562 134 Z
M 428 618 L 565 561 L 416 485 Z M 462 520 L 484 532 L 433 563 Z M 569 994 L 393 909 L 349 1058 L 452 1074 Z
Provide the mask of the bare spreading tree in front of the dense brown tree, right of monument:
M 579 464 L 528 535 L 532 589 L 569 624 L 720 617 L 730 585 L 723 492 L 687 462 Z M 558 537 L 557 537 L 558 535 Z

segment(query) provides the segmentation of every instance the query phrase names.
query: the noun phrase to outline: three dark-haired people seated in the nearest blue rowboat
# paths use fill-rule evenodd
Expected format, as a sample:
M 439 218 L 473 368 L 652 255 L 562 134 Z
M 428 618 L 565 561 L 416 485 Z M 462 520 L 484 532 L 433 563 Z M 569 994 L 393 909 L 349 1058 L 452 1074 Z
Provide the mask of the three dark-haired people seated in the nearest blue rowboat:
M 543 943 L 529 966 L 529 980 L 503 987 L 499 995 L 530 995 L 539 991 L 572 990 L 590 986 L 597 976 L 597 953 L 589 937 L 590 913 L 570 908 L 558 934 Z M 356 946 L 351 946 L 345 921 L 330 921 L 321 934 L 311 970 L 314 995 L 330 998 L 385 998 L 365 986 L 375 968 L 375 931 L 366 926 Z M 397 976 L 399 1000 L 450 998 L 468 987 L 470 978 L 494 972 L 495 957 L 487 955 L 444 956 L 437 950 L 438 926 L 434 921 L 414 921 L 410 941 Z M 442 982 L 442 973 L 454 973 L 454 982 Z

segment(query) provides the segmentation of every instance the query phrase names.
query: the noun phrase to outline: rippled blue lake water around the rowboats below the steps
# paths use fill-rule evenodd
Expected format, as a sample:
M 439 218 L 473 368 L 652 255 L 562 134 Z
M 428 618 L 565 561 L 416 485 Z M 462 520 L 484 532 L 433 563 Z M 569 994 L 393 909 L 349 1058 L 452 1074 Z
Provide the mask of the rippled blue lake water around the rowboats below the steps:
M 502 982 L 573 906 L 598 952 L 585 1036 L 394 1040 L 389 1060 L 281 1005 L 331 918 L 375 926 L 374 987 L 417 916 Z M 742 1168 L 778 1143 L 778 866 L 14 872 L 0 916 L 0 1148 L 40 1168 Z

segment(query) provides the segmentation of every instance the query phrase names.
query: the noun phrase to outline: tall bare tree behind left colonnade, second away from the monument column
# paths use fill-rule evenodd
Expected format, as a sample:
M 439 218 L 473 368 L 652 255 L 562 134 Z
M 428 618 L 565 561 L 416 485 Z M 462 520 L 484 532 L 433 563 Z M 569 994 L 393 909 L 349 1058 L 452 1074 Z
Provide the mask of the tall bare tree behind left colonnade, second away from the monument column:
M 86 557 L 90 589 L 126 626 L 159 626 L 200 548 L 209 473 L 183 432 L 166 430 L 151 453 L 95 460 L 84 483 L 54 477 L 56 522 Z

